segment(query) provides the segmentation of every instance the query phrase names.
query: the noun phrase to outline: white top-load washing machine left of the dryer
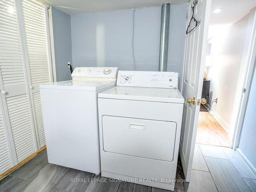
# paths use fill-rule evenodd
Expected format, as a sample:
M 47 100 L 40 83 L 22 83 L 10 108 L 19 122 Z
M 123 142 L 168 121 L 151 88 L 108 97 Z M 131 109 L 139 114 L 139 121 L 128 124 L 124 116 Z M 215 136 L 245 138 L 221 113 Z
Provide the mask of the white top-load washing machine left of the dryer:
M 100 173 L 97 95 L 117 68 L 76 68 L 74 81 L 40 85 L 49 163 Z

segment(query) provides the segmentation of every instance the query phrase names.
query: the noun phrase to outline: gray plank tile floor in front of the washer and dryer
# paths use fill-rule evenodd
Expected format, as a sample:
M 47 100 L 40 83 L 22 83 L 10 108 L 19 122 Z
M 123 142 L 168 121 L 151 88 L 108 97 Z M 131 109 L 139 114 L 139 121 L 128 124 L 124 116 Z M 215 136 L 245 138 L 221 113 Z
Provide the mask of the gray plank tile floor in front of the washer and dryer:
M 184 192 L 184 175 L 180 161 L 176 178 L 175 191 Z M 109 182 L 108 179 L 107 182 L 100 182 L 100 179 L 102 177 L 95 174 L 48 163 L 47 151 L 44 150 L 0 180 L 0 191 L 167 191 L 128 182 Z

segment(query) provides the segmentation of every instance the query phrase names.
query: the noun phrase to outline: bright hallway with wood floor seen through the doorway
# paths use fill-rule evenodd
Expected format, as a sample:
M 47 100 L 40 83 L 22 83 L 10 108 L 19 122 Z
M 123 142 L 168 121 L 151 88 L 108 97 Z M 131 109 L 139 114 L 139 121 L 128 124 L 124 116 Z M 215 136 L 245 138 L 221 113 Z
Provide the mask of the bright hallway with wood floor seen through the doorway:
M 196 143 L 231 147 L 249 14 L 230 23 L 217 16 L 210 15 Z

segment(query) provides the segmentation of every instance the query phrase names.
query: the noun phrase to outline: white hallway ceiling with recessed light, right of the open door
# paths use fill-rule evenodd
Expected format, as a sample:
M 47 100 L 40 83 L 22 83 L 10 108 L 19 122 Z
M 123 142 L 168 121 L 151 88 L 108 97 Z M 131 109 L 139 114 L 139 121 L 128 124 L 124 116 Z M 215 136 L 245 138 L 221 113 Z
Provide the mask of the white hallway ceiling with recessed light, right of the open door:
M 212 0 L 211 10 L 223 8 L 219 13 L 211 13 L 210 25 L 232 24 L 256 7 L 256 0 Z

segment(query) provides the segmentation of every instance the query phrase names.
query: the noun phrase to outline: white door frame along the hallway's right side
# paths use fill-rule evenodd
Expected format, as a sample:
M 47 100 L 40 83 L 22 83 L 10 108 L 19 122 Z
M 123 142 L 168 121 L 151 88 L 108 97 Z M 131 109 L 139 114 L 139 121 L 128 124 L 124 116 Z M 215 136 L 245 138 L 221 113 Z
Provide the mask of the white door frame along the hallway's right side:
M 251 9 L 249 13 L 242 63 L 245 63 L 244 72 L 240 74 L 243 81 L 238 85 L 240 88 L 237 89 L 235 99 L 239 102 L 238 104 L 234 103 L 236 111 L 232 114 L 234 132 L 231 148 L 233 150 L 237 150 L 239 146 L 251 82 L 256 67 L 256 7 Z

